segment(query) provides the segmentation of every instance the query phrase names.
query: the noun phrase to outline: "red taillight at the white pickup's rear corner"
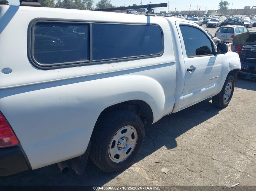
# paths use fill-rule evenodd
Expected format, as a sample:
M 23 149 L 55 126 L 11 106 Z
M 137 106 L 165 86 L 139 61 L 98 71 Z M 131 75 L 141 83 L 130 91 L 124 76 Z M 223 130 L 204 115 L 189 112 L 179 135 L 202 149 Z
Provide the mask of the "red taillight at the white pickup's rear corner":
M 0 113 L 0 148 L 19 144 L 5 118 Z

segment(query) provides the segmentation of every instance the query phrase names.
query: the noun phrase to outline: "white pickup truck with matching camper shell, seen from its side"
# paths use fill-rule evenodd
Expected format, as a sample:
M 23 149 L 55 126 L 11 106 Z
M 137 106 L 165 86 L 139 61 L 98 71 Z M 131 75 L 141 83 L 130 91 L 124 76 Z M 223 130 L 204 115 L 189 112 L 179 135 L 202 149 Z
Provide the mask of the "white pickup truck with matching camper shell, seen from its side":
M 147 125 L 209 97 L 227 107 L 241 69 L 179 18 L 0 5 L 0 34 L 0 176 L 81 174 L 88 155 L 125 169 Z

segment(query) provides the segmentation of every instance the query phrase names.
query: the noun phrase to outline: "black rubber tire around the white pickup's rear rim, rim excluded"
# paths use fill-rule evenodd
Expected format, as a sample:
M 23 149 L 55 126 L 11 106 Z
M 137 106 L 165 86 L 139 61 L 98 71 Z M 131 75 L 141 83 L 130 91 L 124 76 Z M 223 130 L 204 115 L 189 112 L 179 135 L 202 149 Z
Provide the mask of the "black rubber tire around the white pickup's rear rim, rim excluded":
M 137 131 L 137 143 L 132 153 L 121 162 L 113 162 L 109 156 L 109 145 L 113 136 L 124 126 L 133 126 Z M 133 113 L 116 111 L 105 116 L 95 125 L 91 136 L 90 158 L 101 170 L 114 173 L 127 168 L 136 158 L 144 141 L 144 125 Z

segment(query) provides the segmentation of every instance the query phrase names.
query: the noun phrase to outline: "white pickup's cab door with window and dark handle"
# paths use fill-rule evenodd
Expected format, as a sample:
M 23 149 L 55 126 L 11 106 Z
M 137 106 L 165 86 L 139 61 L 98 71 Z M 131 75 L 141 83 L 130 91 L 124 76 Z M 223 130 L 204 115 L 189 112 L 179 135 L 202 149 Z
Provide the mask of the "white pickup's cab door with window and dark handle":
M 205 31 L 185 24 L 177 28 L 186 70 L 184 108 L 218 93 L 222 66 L 221 55 L 213 55 L 215 45 Z

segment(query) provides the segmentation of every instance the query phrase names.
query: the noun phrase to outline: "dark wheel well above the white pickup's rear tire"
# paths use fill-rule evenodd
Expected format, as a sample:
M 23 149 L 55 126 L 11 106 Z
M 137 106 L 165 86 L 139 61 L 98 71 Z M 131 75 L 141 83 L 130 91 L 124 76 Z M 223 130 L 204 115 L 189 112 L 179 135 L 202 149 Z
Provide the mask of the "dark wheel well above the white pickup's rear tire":
M 151 110 L 151 107 L 148 105 L 148 103 L 142 100 L 129 100 L 117 103 L 115 105 L 111 105 L 101 112 L 97 119 L 97 122 L 102 117 L 108 115 L 108 113 L 121 110 L 134 113 L 142 120 L 145 126 L 148 126 L 153 123 L 153 112 Z

